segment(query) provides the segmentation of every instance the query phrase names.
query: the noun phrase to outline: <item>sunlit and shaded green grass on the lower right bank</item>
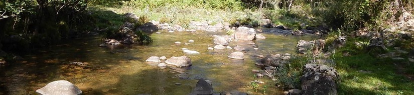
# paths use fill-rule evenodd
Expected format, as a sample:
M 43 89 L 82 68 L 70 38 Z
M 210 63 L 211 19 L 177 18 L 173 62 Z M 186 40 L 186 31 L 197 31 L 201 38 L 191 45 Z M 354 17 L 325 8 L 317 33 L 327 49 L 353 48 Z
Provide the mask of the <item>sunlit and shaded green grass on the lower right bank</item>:
M 367 53 L 337 55 L 335 60 L 341 77 L 339 94 L 414 94 L 414 82 L 397 73 L 394 63 L 401 61 Z

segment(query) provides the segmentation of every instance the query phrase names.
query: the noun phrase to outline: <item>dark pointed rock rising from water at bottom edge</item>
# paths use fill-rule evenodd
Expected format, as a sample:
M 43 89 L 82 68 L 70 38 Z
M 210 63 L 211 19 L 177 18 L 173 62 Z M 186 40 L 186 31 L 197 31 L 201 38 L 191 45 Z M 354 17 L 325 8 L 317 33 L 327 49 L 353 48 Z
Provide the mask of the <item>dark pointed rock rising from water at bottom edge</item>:
M 203 78 L 197 81 L 196 87 L 191 92 L 191 95 L 210 95 L 213 94 L 213 86 Z

